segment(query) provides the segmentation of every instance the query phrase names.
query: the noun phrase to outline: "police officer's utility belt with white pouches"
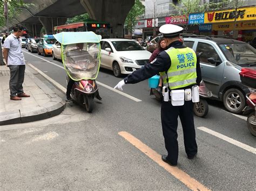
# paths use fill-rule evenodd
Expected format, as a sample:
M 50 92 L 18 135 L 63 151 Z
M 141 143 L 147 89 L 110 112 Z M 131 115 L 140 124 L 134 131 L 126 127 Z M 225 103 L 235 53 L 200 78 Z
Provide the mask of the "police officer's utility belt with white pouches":
M 193 103 L 199 102 L 199 87 L 197 85 L 188 89 L 169 90 L 168 87 L 163 87 L 164 102 L 171 101 L 173 106 L 184 105 L 184 101 Z

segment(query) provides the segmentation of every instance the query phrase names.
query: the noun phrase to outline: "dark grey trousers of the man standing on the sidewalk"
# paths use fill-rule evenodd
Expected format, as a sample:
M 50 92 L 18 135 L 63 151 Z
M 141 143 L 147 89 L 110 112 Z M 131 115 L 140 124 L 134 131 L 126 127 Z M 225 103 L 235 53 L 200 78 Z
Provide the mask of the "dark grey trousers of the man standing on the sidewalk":
M 9 65 L 8 67 L 10 68 L 10 96 L 14 97 L 23 93 L 25 65 Z

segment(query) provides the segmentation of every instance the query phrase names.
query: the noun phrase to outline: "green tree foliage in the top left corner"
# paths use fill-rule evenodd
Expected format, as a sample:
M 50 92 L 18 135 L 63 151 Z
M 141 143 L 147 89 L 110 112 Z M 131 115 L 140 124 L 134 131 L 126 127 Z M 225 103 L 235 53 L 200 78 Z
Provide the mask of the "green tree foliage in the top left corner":
M 0 26 L 5 26 L 5 16 L 4 16 L 4 2 L 5 0 L 0 0 Z M 9 22 L 12 22 L 21 13 L 22 9 L 26 8 L 32 4 L 24 3 L 23 0 L 6 0 L 8 3 L 8 18 Z

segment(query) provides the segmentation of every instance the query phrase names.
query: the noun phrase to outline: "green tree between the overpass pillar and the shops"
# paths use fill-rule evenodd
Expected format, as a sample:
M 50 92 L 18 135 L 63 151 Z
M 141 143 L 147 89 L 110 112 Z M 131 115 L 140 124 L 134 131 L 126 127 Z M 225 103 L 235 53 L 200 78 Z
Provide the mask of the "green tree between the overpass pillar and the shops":
M 125 19 L 125 28 L 132 34 L 137 23 L 137 17 L 145 13 L 145 6 L 139 0 L 135 0 L 132 9 Z

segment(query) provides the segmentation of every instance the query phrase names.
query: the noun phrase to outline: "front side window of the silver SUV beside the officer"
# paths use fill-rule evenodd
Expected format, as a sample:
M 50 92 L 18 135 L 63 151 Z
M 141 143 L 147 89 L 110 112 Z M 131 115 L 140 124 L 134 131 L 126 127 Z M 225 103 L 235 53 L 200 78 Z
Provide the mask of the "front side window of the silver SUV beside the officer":
M 221 61 L 218 53 L 215 51 L 212 45 L 206 43 L 198 43 L 196 52 L 197 54 L 203 52 L 203 54 L 200 56 L 200 62 L 212 65 L 212 63 L 207 60 L 208 58 L 214 58 L 215 60 Z

